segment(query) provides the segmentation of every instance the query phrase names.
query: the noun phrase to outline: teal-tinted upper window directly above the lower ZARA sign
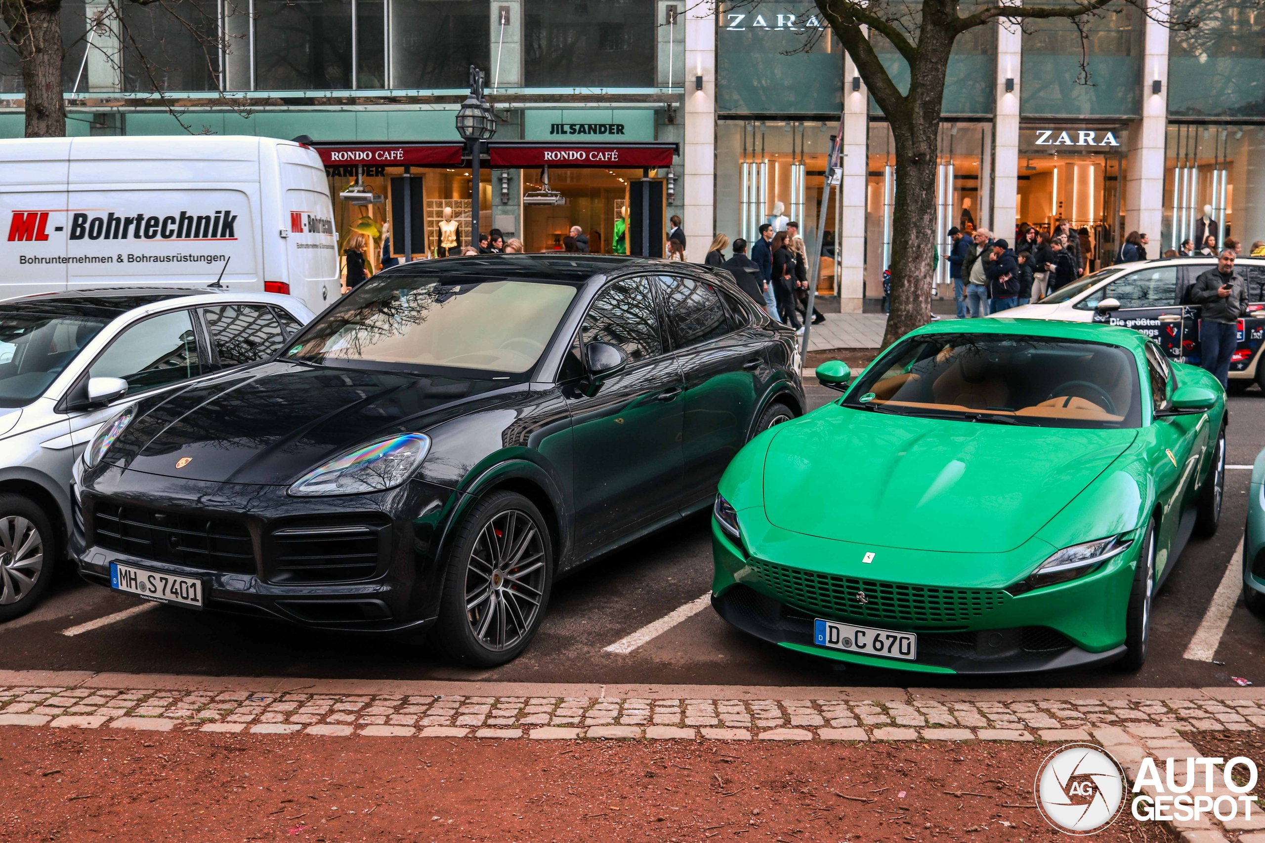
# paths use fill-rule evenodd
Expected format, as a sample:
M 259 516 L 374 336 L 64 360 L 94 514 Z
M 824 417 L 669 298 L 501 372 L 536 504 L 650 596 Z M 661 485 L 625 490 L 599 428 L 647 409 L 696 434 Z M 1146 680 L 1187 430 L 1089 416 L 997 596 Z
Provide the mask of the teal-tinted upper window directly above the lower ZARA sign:
M 1040 0 L 1041 5 L 1056 3 Z M 1022 114 L 1141 114 L 1146 16 L 1127 4 L 1109 9 L 1085 21 L 1088 44 L 1082 44 L 1080 32 L 1070 20 L 1025 21 Z M 1088 57 L 1084 70 L 1080 67 L 1082 56 Z

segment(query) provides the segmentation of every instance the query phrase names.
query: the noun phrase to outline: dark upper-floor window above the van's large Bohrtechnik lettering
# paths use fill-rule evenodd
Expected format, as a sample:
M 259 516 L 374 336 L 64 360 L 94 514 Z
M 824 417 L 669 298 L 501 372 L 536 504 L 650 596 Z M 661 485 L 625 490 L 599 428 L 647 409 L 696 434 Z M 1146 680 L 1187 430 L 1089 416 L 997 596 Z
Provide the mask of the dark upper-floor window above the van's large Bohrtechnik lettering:
M 124 3 L 123 87 L 125 91 L 214 91 L 219 72 L 219 5 L 176 0 Z M 83 90 L 82 82 L 80 90 Z

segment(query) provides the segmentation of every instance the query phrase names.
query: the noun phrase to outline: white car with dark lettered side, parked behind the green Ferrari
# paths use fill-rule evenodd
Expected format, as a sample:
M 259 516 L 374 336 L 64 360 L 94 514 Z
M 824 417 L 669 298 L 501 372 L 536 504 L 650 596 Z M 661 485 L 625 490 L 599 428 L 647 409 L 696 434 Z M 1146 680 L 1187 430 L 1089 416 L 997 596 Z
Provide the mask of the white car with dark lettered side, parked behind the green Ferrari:
M 1040 302 L 993 313 L 997 318 L 1052 318 L 1068 322 L 1123 325 L 1155 339 L 1174 360 L 1199 361 L 1198 305 L 1187 293 L 1200 273 L 1217 267 L 1217 259 L 1164 258 L 1138 260 L 1099 269 L 1061 287 Z M 1238 348 L 1230 361 L 1230 391 L 1241 392 L 1261 384 L 1265 336 L 1265 258 L 1238 258 L 1235 270 L 1247 282 L 1251 303 L 1238 320 Z

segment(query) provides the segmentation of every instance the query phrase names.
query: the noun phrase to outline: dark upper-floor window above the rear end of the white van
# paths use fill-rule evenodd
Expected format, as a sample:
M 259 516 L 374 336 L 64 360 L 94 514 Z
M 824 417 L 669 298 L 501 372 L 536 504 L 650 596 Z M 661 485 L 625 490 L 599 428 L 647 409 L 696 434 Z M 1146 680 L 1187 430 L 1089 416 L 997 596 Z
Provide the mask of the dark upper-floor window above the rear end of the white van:
M 256 0 L 256 90 L 352 87 L 350 0 Z

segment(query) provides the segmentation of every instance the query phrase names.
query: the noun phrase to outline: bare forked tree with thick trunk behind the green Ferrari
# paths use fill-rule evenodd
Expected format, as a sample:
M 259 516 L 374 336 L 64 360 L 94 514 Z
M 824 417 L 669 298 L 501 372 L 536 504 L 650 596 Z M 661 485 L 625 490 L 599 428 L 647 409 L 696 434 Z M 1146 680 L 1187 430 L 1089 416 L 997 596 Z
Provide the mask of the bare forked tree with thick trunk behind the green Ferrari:
M 1060 18 L 1080 32 L 1108 6 L 1133 5 L 1149 18 L 1174 28 L 1168 5 L 1147 0 L 1054 0 L 1051 4 L 983 3 L 961 9 L 959 0 L 813 0 L 842 43 L 892 128 L 896 150 L 896 201 L 892 210 L 892 307 L 883 345 L 931 321 L 932 250 L 936 243 L 937 134 L 945 76 L 954 42 L 963 33 L 993 21 L 1021 27 L 1028 20 Z M 872 42 L 885 38 L 910 66 L 908 92 L 892 80 Z M 1082 83 L 1090 83 L 1082 59 Z

